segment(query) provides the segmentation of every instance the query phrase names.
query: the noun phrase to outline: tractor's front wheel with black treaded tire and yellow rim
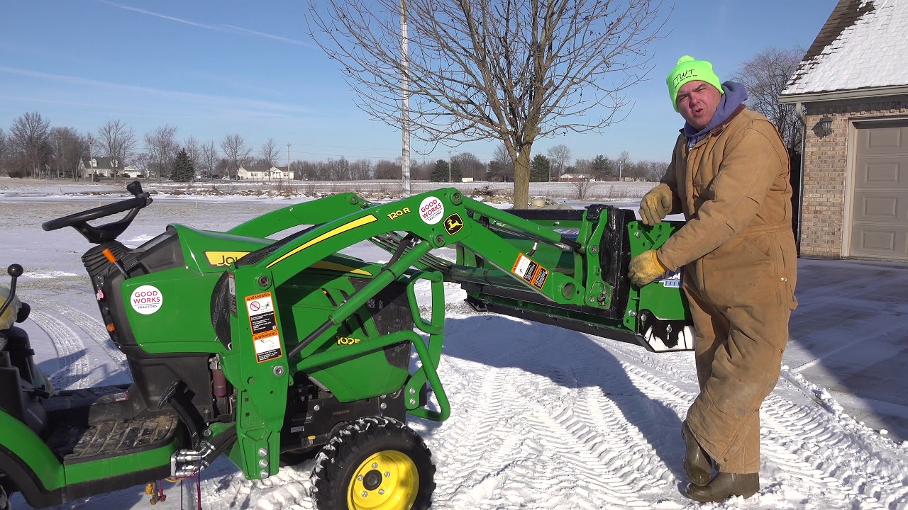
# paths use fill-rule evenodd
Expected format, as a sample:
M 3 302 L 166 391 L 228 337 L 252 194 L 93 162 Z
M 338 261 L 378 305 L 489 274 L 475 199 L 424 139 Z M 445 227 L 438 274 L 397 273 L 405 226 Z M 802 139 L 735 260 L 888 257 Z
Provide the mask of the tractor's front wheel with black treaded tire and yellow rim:
M 425 510 L 435 490 L 435 465 L 410 427 L 364 417 L 322 447 L 312 486 L 319 510 Z

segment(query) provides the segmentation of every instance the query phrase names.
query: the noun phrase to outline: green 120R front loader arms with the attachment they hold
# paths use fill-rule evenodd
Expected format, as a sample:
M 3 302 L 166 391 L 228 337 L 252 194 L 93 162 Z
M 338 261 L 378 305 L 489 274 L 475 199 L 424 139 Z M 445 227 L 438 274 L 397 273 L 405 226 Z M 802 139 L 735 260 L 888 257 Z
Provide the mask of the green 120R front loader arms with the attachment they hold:
M 675 226 L 641 229 L 632 213 L 628 217 L 607 206 L 568 211 L 563 218 L 518 214 L 526 215 L 500 211 L 456 189 L 383 204 L 345 193 L 273 211 L 229 230 L 264 238 L 311 225 L 248 253 L 224 274 L 229 284 L 223 289 L 229 294 L 225 290 L 221 301 L 229 307 L 230 323 L 229 338 L 222 338 L 228 348 L 224 371 L 240 391 L 238 443 L 244 457 L 277 447 L 285 410 L 270 403 L 286 398 L 297 374 L 325 384 L 318 381 L 326 370 L 406 342 L 419 358 L 419 368 L 400 388 L 407 412 L 439 421 L 448 417 L 448 399 L 437 373 L 444 333 L 443 281 L 467 289 L 468 302 L 476 309 L 640 343 L 650 350 L 691 347 L 679 280 L 669 276 L 637 289 L 625 274 L 631 254 L 661 245 Z M 284 299 L 296 295 L 291 289 L 321 274 L 321 261 L 367 240 L 389 250 L 390 260 L 364 271 L 368 277 L 358 276 L 363 284 L 357 289 L 307 294 L 326 294 L 330 305 L 307 305 L 313 310 L 321 306 L 321 312 L 282 317 L 288 309 Z M 430 253 L 446 247 L 456 250 L 457 260 Z M 414 285 L 419 280 L 430 282 L 428 321 L 420 317 L 416 304 Z M 350 321 L 361 321 L 362 310 L 392 284 L 406 286 L 412 323 L 428 336 L 428 343 L 408 328 L 355 338 L 356 345 L 337 348 Z M 227 316 L 226 310 L 222 313 Z M 378 385 L 364 393 L 350 389 L 343 379 L 331 379 L 334 387 L 329 387 L 341 402 L 390 392 L 390 387 Z M 426 407 L 427 383 L 439 410 Z

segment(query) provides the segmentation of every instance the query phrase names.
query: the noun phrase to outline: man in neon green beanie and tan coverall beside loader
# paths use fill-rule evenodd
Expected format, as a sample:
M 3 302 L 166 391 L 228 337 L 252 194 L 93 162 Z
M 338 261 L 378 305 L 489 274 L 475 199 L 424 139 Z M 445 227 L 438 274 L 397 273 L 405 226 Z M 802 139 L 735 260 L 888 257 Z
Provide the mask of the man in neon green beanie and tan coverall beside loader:
M 712 64 L 683 56 L 666 83 L 686 123 L 640 215 L 648 225 L 674 212 L 687 221 L 631 260 L 628 276 L 643 286 L 684 268 L 700 383 L 682 425 L 687 496 L 749 497 L 760 488 L 759 409 L 797 305 L 788 154 L 775 126 L 745 108 L 744 86 L 720 83 Z

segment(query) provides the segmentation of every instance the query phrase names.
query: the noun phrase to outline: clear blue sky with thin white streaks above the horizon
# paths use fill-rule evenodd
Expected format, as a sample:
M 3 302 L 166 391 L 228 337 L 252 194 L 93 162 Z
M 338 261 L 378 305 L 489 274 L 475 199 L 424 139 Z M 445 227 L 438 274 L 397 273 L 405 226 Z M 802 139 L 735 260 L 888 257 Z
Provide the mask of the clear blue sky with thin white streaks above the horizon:
M 574 158 L 597 154 L 667 161 L 683 124 L 665 76 L 682 54 L 713 62 L 723 80 L 769 47 L 807 47 L 835 0 L 701 0 L 674 6 L 653 44 L 649 80 L 628 91 L 627 118 L 601 133 L 540 139 L 534 153 L 565 143 Z M 169 124 L 180 140 L 242 134 L 257 152 L 273 138 L 292 160 L 341 156 L 393 160 L 400 132 L 371 120 L 306 34 L 307 2 L 35 0 L 5 2 L 0 16 L 0 127 L 25 112 L 52 126 L 97 132 L 110 120 L 145 132 Z M 499 142 L 451 149 L 489 161 Z M 414 140 L 414 148 L 419 149 Z M 441 147 L 415 159 L 447 159 Z

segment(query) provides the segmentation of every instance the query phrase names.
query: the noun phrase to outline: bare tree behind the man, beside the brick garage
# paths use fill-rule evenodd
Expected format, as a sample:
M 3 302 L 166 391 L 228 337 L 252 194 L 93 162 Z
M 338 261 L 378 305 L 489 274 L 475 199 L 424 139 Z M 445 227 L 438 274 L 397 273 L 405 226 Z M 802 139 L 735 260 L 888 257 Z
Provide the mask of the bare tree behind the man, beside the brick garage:
M 801 124 L 794 104 L 780 104 L 779 95 L 788 79 L 795 74 L 804 48 L 766 48 L 741 64 L 732 79 L 747 88 L 747 107 L 763 113 L 782 134 L 788 152 L 801 150 Z

